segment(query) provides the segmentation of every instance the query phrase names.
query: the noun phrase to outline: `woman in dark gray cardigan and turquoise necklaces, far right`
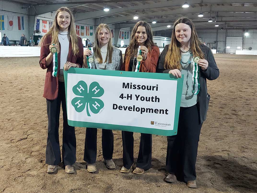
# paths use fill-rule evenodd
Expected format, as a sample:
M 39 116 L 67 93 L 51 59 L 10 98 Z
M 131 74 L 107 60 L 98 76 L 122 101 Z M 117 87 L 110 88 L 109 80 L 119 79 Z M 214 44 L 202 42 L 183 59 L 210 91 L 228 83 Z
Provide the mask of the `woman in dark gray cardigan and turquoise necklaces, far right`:
M 177 135 L 168 136 L 167 182 L 177 179 L 196 188 L 196 157 L 199 135 L 206 119 L 210 95 L 206 79 L 214 80 L 219 69 L 212 50 L 201 44 L 195 26 L 182 17 L 174 23 L 171 43 L 161 53 L 157 72 L 184 75 Z

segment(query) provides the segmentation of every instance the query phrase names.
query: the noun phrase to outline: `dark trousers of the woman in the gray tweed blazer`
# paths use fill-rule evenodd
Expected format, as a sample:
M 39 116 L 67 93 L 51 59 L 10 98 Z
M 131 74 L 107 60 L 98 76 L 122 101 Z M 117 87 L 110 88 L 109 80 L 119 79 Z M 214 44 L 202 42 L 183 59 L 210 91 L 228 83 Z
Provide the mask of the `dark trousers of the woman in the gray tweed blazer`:
M 102 150 L 103 158 L 112 159 L 113 155 L 113 132 L 112 130 L 102 129 Z M 96 162 L 97 153 L 97 128 L 86 128 L 84 161 L 87 163 Z

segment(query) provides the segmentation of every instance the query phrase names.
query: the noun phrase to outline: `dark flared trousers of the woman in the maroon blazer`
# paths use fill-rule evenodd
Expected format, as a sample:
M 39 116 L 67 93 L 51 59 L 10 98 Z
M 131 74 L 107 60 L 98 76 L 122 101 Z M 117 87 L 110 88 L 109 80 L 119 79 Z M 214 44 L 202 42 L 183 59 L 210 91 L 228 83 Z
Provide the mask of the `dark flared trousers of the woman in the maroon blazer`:
M 49 165 L 58 165 L 61 162 L 59 143 L 59 117 L 61 104 L 63 111 L 62 161 L 66 166 L 76 162 L 76 137 L 75 128 L 69 126 L 67 122 L 64 82 L 59 82 L 57 99 L 47 99 L 48 137 L 45 163 Z

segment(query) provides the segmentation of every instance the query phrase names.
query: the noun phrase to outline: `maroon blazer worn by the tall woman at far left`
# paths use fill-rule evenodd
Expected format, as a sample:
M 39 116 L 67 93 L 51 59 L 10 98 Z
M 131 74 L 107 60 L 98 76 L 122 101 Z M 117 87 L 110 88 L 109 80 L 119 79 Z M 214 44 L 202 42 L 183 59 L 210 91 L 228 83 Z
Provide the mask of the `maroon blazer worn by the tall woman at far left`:
M 48 36 L 45 41 L 43 42 L 41 46 L 40 51 L 40 60 L 39 64 L 40 67 L 43 69 L 47 69 L 47 73 L 45 75 L 45 87 L 44 87 L 44 94 L 43 97 L 54 100 L 58 96 L 58 76 L 60 73 L 60 57 L 61 57 L 61 45 L 59 43 L 60 52 L 58 53 L 58 71 L 57 71 L 57 77 L 52 76 L 53 72 L 53 61 L 49 64 L 49 66 L 45 66 L 45 59 L 50 53 L 49 45 L 51 44 L 52 37 Z M 80 37 L 78 37 L 78 47 L 79 47 L 79 53 L 74 56 L 72 54 L 72 47 L 71 47 L 71 40 L 69 44 L 69 53 L 68 53 L 68 62 L 76 63 L 79 65 L 79 68 L 83 65 L 83 44 Z

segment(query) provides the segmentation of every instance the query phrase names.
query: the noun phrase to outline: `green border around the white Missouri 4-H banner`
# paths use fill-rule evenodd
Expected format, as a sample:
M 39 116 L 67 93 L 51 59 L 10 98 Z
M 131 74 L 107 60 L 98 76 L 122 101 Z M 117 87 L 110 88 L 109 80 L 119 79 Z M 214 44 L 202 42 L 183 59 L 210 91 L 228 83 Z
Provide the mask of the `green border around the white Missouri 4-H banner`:
M 81 122 L 81 121 L 71 121 L 71 120 L 68 120 L 68 125 L 74 126 L 74 127 L 92 127 L 92 128 L 102 128 L 102 129 L 110 129 L 110 130 L 131 131 L 131 132 L 137 132 L 137 133 L 149 133 L 149 134 L 163 135 L 163 136 L 172 136 L 172 135 L 177 134 L 184 75 L 182 75 L 181 78 L 176 78 L 172 74 L 168 74 L 168 73 L 149 73 L 149 72 L 135 73 L 135 72 L 128 72 L 128 71 L 99 70 L 99 69 L 87 69 L 87 68 L 70 68 L 68 71 L 64 70 L 63 72 L 64 72 L 63 73 L 64 74 L 64 82 L 65 82 L 66 104 L 67 104 L 67 76 L 68 76 L 68 73 L 131 77 L 131 78 L 176 80 L 177 81 L 177 95 L 176 95 L 176 106 L 175 106 L 175 117 L 174 117 L 173 130 L 161 130 L 161 129 L 154 129 L 154 128 L 113 125 L 113 124 L 104 124 L 104 123 L 91 123 L 91 122 Z

